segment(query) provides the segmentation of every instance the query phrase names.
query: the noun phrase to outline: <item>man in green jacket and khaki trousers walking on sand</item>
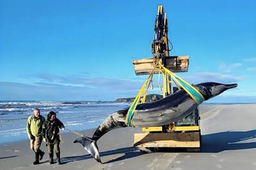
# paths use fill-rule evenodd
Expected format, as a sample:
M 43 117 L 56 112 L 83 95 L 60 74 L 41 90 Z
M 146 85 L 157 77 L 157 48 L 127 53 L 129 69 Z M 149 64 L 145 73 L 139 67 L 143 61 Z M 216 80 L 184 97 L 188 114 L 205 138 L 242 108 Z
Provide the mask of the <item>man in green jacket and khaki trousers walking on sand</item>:
M 27 121 L 27 133 L 28 138 L 30 139 L 30 148 L 35 152 L 34 165 L 39 164 L 39 160 L 42 160 L 44 156 L 44 152 L 40 150 L 42 143 L 42 125 L 44 122 L 45 118 L 40 115 L 40 110 L 38 108 L 35 108 L 34 114 L 29 116 Z

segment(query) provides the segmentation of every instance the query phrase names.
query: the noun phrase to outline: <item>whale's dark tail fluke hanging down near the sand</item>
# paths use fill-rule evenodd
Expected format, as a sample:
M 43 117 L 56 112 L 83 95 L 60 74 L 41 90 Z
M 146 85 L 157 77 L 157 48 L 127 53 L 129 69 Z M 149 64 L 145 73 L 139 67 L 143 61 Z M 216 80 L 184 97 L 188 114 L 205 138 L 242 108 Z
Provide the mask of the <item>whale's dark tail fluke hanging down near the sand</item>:
M 88 138 L 87 136 L 83 136 L 81 138 L 77 138 L 74 143 L 81 143 L 84 146 L 84 149 L 92 155 L 92 157 L 97 160 L 97 162 L 101 162 L 99 155 L 99 148 L 97 146 L 96 141 L 93 141 L 92 138 Z

